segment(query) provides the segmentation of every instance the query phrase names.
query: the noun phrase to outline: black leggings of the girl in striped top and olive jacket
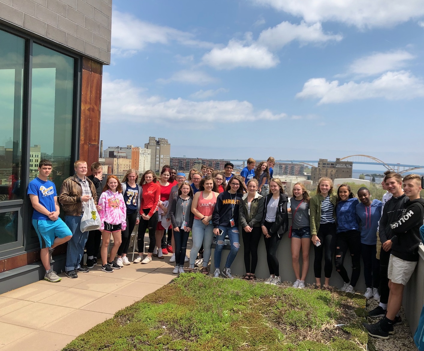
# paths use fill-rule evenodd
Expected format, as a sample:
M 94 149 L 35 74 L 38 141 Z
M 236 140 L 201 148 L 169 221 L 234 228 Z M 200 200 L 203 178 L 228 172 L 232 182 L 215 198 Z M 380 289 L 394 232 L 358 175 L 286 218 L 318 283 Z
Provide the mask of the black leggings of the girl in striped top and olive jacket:
M 333 255 L 336 247 L 336 224 L 321 223 L 318 230 L 318 239 L 321 241 L 321 245 L 318 247 L 314 245 L 315 278 L 321 278 L 322 254 L 324 250 L 324 276 L 330 278 L 333 271 Z

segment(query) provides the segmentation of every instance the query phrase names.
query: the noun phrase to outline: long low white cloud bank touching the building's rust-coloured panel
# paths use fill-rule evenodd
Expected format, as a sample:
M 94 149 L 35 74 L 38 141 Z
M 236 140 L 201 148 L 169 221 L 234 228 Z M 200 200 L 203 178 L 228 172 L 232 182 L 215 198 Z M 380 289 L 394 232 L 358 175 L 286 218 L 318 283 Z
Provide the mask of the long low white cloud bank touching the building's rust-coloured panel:
M 256 111 L 248 101 L 201 101 L 164 99 L 147 96 L 145 89 L 134 86 L 130 80 L 110 80 L 103 75 L 102 121 L 126 120 L 137 123 L 162 123 L 187 121 L 190 124 L 218 122 L 234 123 L 258 120 L 279 120 L 288 116 L 267 109 Z

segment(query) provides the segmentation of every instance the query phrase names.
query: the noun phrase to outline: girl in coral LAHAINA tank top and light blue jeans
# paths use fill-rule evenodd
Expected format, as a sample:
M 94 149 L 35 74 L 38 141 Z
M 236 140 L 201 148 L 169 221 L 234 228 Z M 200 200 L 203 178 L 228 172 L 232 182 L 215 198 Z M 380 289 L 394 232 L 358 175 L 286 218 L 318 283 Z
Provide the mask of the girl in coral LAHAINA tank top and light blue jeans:
M 217 186 L 211 176 L 205 176 L 199 183 L 199 191 L 194 194 L 191 212 L 194 214 L 192 227 L 193 246 L 190 250 L 190 273 L 194 270 L 194 261 L 203 243 L 202 273 L 207 275 L 212 253 L 213 225 L 212 213 L 219 195 Z

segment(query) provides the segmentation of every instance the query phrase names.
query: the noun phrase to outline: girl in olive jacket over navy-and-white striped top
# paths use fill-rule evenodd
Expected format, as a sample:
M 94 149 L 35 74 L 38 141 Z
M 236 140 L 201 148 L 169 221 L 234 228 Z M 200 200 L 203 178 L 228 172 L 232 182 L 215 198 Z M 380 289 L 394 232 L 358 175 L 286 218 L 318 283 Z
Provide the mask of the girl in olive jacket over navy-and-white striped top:
M 333 181 L 322 177 L 318 181 L 317 193 L 309 202 L 310 227 L 314 244 L 315 287 L 321 288 L 321 265 L 324 253 L 324 288 L 329 289 L 333 271 L 333 255 L 336 246 L 336 214 L 337 195 L 333 194 Z M 318 246 L 317 246 L 317 243 Z

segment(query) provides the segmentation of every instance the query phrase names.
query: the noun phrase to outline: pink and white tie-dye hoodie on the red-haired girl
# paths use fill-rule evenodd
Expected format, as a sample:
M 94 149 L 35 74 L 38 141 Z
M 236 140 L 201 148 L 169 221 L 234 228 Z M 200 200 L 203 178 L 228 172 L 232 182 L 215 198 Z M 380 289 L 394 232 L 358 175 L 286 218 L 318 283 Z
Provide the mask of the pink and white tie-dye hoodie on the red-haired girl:
M 120 224 L 121 229 L 125 230 L 127 227 L 127 207 L 121 193 L 113 193 L 110 190 L 106 190 L 100 195 L 98 204 L 101 207 L 99 210 L 99 216 L 102 221 L 100 230 L 105 229 L 103 222 Z

